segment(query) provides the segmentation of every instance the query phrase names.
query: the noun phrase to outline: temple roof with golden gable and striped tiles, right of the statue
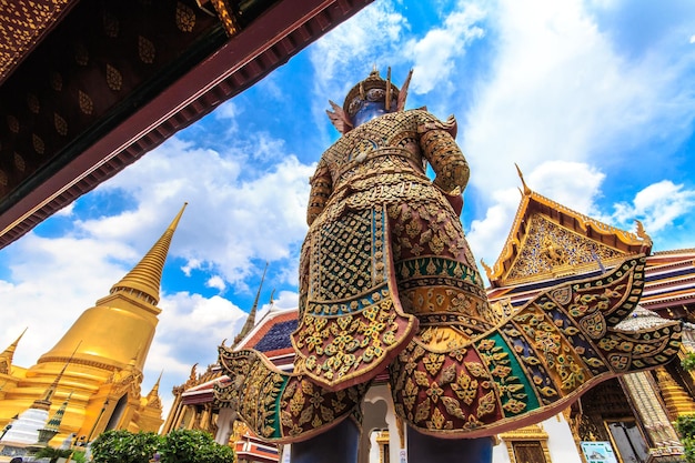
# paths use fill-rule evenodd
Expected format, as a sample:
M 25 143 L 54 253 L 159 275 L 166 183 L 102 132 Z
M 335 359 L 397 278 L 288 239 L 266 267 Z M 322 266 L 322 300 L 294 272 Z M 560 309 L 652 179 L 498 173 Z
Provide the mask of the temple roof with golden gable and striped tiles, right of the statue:
M 642 308 L 695 321 L 695 249 L 652 253 L 639 222 L 637 233 L 616 229 L 542 197 L 521 178 L 522 200 L 504 248 L 493 268 L 483 263 L 493 304 L 521 306 L 550 286 L 597 276 L 628 255 L 646 254 Z

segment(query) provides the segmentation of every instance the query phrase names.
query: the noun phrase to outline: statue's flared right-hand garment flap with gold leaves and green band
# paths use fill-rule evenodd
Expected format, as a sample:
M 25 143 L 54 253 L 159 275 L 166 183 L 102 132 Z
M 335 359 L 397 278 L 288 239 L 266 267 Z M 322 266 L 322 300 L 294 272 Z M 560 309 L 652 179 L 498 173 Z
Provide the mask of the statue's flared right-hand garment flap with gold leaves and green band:
M 636 306 L 644 264 L 633 258 L 600 278 L 552 288 L 497 328 L 470 331 L 467 342 L 460 335 L 449 348 L 436 338 L 462 333 L 455 319 L 445 329 L 421 328 L 390 365 L 396 414 L 423 433 L 491 435 L 551 416 L 608 378 L 674 359 L 678 322 L 615 330 Z

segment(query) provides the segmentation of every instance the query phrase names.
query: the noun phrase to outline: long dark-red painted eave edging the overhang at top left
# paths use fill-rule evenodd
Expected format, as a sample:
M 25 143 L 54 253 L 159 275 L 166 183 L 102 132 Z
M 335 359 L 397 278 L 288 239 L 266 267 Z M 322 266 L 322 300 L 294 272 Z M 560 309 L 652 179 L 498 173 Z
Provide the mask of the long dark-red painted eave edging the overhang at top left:
M 0 214 L 0 248 L 251 87 L 372 0 L 280 1 Z

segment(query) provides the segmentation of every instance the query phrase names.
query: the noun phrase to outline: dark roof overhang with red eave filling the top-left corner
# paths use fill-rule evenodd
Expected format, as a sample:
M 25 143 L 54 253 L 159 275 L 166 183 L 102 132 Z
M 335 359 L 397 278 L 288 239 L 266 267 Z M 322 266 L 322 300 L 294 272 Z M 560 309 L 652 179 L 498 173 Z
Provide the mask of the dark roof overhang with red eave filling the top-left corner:
M 6 2 L 0 248 L 370 2 Z

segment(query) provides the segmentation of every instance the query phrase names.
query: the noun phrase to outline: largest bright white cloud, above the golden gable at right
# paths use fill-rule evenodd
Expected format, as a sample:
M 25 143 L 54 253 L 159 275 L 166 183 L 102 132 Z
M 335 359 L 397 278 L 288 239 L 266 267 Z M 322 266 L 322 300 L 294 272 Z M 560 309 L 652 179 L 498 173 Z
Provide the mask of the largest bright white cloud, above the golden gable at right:
M 514 162 L 535 169 L 550 158 L 614 169 L 628 162 L 620 158 L 625 148 L 675 145 L 689 133 L 685 64 L 657 49 L 634 60 L 620 54 L 583 6 L 503 1 L 490 14 L 497 52 L 491 74 L 474 83 L 461 130 L 477 188 L 490 179 L 513 184 Z

